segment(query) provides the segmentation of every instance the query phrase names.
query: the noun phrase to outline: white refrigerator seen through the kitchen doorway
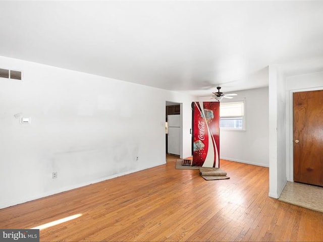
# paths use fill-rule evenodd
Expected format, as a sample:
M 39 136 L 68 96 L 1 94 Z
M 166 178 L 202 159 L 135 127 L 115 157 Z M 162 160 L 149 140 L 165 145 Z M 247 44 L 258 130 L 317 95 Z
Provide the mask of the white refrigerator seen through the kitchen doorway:
M 181 115 L 168 115 L 168 153 L 180 155 Z

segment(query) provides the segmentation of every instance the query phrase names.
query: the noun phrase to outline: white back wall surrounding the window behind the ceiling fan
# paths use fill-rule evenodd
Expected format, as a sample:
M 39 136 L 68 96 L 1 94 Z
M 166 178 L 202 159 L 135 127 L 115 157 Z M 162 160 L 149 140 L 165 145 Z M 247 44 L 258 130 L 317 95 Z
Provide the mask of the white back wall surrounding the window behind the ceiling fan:
M 269 166 L 268 158 L 268 88 L 249 89 L 225 102 L 245 101 L 245 131 L 220 130 L 221 159 Z M 209 101 L 203 98 L 202 101 Z

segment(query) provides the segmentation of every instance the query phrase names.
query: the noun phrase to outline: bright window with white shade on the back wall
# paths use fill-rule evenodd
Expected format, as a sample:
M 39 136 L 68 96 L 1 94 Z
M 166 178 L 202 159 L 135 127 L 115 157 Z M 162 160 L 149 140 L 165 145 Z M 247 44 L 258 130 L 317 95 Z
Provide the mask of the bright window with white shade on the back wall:
M 220 103 L 220 128 L 244 130 L 244 102 Z

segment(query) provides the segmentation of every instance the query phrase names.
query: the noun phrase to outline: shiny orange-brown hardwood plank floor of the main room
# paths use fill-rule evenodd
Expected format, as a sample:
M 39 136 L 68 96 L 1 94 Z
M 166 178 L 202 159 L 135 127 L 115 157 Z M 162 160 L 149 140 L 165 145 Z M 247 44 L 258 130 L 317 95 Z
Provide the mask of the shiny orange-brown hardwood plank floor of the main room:
M 227 180 L 167 164 L 0 210 L 40 241 L 323 241 L 323 213 L 268 197 L 268 168 L 221 160 Z

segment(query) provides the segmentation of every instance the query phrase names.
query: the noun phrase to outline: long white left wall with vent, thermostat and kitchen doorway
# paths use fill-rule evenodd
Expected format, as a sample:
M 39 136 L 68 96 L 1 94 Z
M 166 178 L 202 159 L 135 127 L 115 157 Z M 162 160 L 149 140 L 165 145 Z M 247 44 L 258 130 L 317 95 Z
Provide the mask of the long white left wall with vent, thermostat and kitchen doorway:
M 182 103 L 191 154 L 191 96 L 1 56 L 0 68 L 23 71 L 0 80 L 0 208 L 164 164 L 166 100 Z

